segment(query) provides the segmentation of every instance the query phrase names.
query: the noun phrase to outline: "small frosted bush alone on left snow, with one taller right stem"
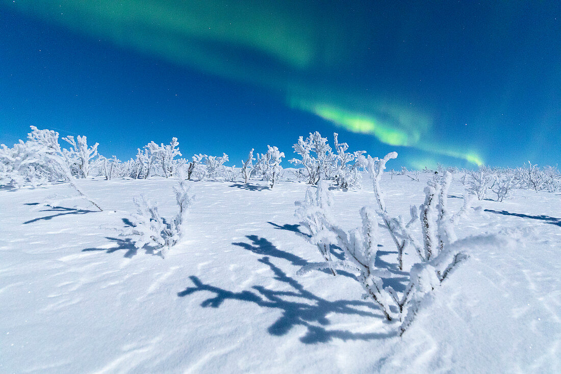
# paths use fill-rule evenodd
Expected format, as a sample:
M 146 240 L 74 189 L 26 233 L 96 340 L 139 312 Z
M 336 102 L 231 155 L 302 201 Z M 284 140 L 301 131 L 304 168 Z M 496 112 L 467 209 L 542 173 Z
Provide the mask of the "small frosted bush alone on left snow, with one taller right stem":
M 143 195 L 134 198 L 136 214 L 130 216 L 132 224 L 123 230 L 122 235 L 128 236 L 136 248 L 150 245 L 160 250 L 160 255 L 165 255 L 171 247 L 176 245 L 185 234 L 185 221 L 188 209 L 195 200 L 182 172 L 178 173 L 177 186 L 173 187 L 176 197 L 178 212 L 171 221 L 165 220 L 158 213 L 158 207 L 145 199 Z

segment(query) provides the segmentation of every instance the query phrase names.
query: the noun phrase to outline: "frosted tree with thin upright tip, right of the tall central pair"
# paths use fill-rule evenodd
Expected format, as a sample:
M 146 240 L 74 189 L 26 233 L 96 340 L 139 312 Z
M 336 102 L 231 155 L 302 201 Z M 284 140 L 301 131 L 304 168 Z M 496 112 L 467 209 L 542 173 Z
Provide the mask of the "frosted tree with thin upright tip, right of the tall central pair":
M 334 133 L 334 147 L 335 153 L 333 157 L 333 168 L 335 175 L 335 182 L 338 188 L 360 188 L 361 176 L 358 170 L 366 164 L 366 158 L 363 156 L 365 150 L 357 150 L 354 153 L 346 152 L 348 149 L 347 143 L 338 142 L 339 134 Z

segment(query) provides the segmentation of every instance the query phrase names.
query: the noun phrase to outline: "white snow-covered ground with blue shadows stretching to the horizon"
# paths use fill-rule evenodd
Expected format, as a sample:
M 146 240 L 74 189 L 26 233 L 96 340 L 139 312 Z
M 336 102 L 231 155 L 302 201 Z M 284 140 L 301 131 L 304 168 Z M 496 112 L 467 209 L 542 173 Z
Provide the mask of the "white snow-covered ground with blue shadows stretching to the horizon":
M 425 181 L 385 175 L 388 211 L 408 216 Z M 0 190 L 0 372 L 561 372 L 561 195 L 516 190 L 478 202 L 472 247 L 402 337 L 349 273 L 296 276 L 317 249 L 297 235 L 306 184 L 190 182 L 188 234 L 165 259 L 119 236 L 139 194 L 172 217 L 173 179 L 78 180 L 98 202 L 45 206 L 67 184 Z M 454 180 L 449 206 L 462 204 Z M 362 191 L 333 191 L 358 225 Z M 417 229 L 417 234 L 419 230 Z M 386 238 L 387 239 L 387 238 Z M 379 261 L 394 262 L 384 240 Z M 406 254 L 405 268 L 416 257 Z

